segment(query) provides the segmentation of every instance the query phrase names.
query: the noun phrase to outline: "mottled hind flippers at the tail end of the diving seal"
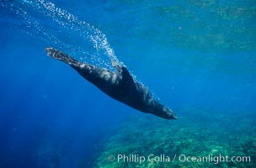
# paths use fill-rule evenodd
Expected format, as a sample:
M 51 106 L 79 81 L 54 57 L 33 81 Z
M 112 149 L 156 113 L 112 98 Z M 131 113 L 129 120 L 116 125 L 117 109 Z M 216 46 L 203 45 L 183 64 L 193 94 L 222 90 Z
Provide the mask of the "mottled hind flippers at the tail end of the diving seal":
M 51 47 L 45 48 L 47 55 L 50 55 L 52 58 L 55 58 L 56 60 L 61 60 L 63 62 L 66 62 L 70 66 L 79 66 L 80 62 L 73 59 L 71 56 L 62 53 L 60 50 L 56 50 Z

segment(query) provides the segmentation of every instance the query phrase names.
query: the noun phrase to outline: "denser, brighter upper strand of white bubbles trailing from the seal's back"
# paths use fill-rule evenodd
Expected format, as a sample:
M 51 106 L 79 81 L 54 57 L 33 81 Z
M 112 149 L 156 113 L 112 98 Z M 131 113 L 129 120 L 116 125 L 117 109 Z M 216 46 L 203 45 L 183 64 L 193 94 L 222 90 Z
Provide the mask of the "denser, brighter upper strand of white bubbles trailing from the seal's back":
M 72 15 L 72 13 L 68 13 L 66 10 L 56 7 L 54 3 L 45 0 L 38 0 L 35 1 L 35 3 L 36 8 L 43 8 L 43 10 L 39 10 L 40 13 L 44 13 L 46 16 L 51 17 L 57 24 L 60 24 L 66 29 L 72 30 L 82 37 L 86 37 L 93 42 L 93 47 L 97 51 L 103 50 L 104 55 L 108 55 L 112 66 L 115 68 L 123 66 L 123 63 L 115 56 L 115 51 L 111 49 L 105 34 L 99 29 L 94 28 L 93 25 L 84 21 L 80 21 L 77 17 Z M 105 64 L 105 66 L 108 65 Z

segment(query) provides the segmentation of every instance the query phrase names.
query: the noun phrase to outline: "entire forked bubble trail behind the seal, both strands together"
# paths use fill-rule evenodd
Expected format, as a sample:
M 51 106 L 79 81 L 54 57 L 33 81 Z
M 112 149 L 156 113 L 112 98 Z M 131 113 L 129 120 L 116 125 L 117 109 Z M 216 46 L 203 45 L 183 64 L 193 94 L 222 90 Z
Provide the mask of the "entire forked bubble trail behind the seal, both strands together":
M 96 65 L 103 65 L 110 69 L 118 69 L 120 66 L 124 66 L 123 63 L 115 56 L 115 52 L 111 49 L 105 34 L 103 34 L 99 29 L 94 28 L 93 25 L 79 20 L 77 17 L 72 15 L 72 13 L 68 13 L 66 10 L 56 7 L 56 4 L 49 1 L 23 0 L 18 2 L 15 1 L 15 3 L 16 4 L 2 2 L 1 6 L 8 8 L 17 16 L 24 19 L 27 25 L 22 30 L 26 34 L 30 34 L 35 38 L 40 38 L 47 42 L 51 41 L 51 43 L 55 45 L 60 45 L 58 47 L 68 50 L 69 54 L 76 55 L 77 53 L 82 53 L 83 56 L 80 57 L 80 60 L 86 60 L 88 59 L 88 56 Z M 29 9 L 33 10 L 35 13 L 31 13 Z M 80 36 L 83 39 L 88 39 L 93 44 L 93 48 L 96 52 L 94 54 L 90 54 L 88 51 L 84 51 L 83 48 L 78 47 L 77 45 L 68 44 L 65 40 L 61 40 L 62 38 L 58 38 L 51 29 L 40 25 L 40 22 L 35 16 L 39 13 L 47 18 L 51 18 L 53 23 L 60 25 L 61 28 L 65 28 L 69 32 L 74 32 L 77 36 Z M 104 61 L 102 55 L 107 55 L 111 65 Z

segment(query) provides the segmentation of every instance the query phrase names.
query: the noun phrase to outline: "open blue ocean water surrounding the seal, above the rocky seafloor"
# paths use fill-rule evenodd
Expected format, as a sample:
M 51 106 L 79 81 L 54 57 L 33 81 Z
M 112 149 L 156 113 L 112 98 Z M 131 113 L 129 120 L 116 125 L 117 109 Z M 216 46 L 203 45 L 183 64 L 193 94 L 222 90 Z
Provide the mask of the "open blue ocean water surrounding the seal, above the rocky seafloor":
M 140 113 L 45 55 L 48 46 L 125 64 L 179 122 L 190 114 L 182 108 L 255 113 L 253 0 L 2 0 L 0 16 L 0 167 L 92 167 L 99 144 Z

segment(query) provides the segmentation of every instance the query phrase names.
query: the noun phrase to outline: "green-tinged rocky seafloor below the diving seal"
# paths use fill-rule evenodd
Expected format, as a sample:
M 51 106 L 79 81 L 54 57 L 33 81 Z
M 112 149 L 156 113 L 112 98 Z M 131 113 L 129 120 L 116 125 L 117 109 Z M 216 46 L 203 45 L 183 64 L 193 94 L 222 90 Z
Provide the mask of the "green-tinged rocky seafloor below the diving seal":
M 255 123 L 255 112 L 239 110 L 184 108 L 171 121 L 132 115 L 102 142 L 93 167 L 253 168 Z

